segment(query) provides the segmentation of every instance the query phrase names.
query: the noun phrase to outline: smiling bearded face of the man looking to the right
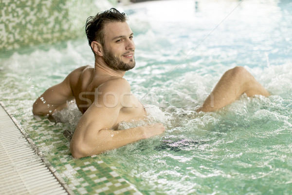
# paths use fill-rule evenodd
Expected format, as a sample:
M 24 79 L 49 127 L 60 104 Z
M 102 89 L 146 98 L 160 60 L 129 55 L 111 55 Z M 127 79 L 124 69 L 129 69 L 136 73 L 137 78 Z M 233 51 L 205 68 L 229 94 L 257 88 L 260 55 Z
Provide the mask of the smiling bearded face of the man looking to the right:
M 105 45 L 103 58 L 106 64 L 120 71 L 135 67 L 135 44 L 133 32 L 127 22 L 111 22 L 105 25 Z

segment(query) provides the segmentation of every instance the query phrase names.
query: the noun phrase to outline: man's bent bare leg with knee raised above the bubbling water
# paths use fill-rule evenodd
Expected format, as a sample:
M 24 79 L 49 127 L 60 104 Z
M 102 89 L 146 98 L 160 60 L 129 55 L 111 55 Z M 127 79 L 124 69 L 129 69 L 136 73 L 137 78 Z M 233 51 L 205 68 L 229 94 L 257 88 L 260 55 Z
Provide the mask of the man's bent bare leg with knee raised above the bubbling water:
M 223 108 L 244 93 L 248 97 L 270 95 L 245 68 L 238 66 L 224 73 L 197 112 L 211 112 Z

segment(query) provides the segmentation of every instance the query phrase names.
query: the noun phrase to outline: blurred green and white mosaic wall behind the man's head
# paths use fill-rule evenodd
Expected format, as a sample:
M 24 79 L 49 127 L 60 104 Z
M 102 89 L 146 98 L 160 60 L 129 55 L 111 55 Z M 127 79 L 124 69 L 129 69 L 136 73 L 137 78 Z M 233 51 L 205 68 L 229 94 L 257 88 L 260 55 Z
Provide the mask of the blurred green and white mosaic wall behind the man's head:
M 0 52 L 85 36 L 89 16 L 115 0 L 0 0 Z

